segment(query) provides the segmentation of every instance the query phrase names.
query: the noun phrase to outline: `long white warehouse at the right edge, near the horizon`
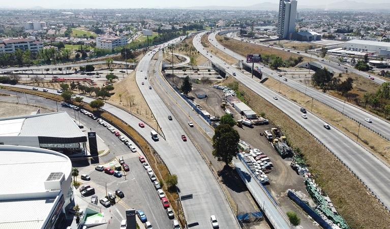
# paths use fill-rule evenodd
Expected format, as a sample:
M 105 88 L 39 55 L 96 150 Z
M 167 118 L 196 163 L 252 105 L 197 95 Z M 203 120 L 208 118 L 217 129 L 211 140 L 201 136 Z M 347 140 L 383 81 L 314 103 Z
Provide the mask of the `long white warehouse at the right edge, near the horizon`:
M 351 40 L 345 42 L 343 48 L 351 51 L 375 52 L 378 55 L 390 56 L 389 42 Z

